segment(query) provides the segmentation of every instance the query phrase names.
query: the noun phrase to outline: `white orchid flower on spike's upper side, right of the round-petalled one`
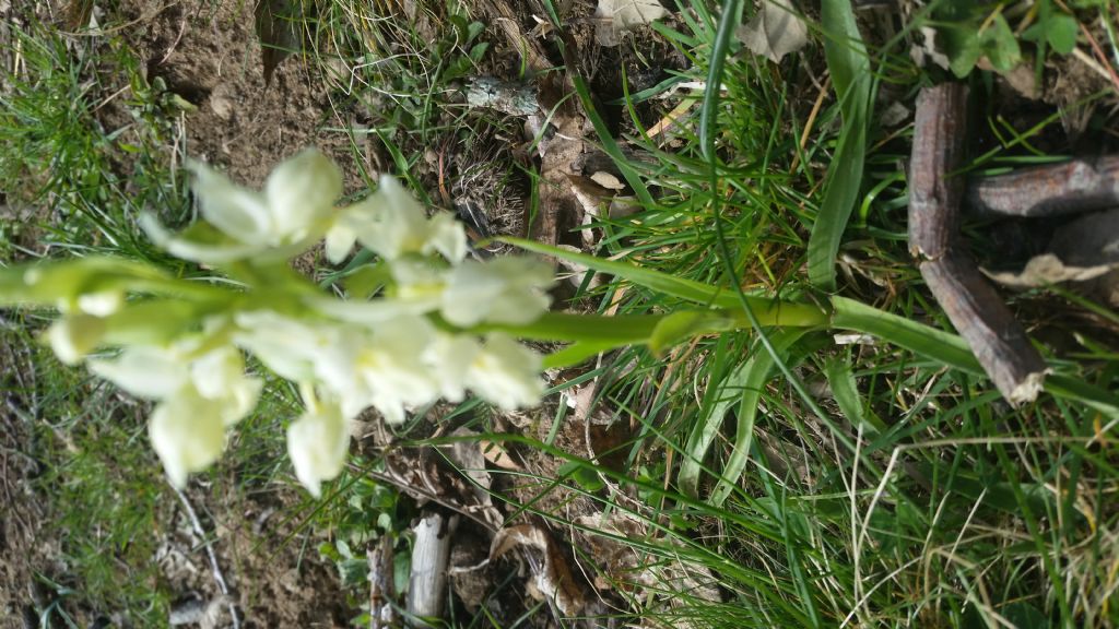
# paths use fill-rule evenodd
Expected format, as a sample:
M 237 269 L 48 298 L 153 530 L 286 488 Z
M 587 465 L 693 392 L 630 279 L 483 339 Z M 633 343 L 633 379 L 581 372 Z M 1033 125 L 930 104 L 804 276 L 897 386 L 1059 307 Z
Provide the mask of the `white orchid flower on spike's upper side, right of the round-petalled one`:
M 342 210 L 327 233 L 327 259 L 341 262 L 356 242 L 388 261 L 439 252 L 454 264 L 467 255 L 462 225 L 445 212 L 427 218 L 404 186 L 387 175 L 375 194 Z

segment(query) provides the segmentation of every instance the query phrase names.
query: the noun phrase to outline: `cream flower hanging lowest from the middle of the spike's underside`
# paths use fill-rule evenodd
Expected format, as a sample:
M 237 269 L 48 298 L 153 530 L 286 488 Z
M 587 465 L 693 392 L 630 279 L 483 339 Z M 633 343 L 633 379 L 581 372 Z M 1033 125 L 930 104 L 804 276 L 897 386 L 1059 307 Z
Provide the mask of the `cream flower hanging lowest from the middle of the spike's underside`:
M 304 395 L 307 412 L 288 426 L 288 456 L 295 477 L 314 497 L 322 481 L 341 473 L 349 451 L 349 420 L 333 402 Z

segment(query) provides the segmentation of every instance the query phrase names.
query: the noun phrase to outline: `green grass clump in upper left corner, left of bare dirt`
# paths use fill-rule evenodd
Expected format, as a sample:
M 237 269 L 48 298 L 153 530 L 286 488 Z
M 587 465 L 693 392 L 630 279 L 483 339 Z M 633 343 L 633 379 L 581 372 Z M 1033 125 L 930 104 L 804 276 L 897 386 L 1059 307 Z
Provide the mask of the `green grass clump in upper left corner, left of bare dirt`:
M 21 63 L 0 100 L 0 181 L 9 204 L 36 210 L 41 236 L 26 253 L 161 260 L 134 219 L 149 206 L 185 207 L 170 172 L 173 103 L 121 39 L 67 38 L 34 19 L 12 31 Z M 97 112 L 107 106 L 133 122 L 105 129 Z

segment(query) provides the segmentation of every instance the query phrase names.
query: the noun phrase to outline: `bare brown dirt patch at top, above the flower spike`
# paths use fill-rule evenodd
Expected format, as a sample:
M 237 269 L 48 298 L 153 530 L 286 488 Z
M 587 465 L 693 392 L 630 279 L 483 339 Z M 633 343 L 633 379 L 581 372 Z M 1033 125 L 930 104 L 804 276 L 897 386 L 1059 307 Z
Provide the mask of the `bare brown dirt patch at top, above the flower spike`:
M 346 150 L 345 135 L 326 130 L 329 88 L 302 58 L 281 63 L 265 84 L 252 2 L 125 0 L 117 13 L 132 25 L 129 40 L 149 83 L 161 79 L 196 107 L 181 118 L 188 156 L 260 185 L 304 147 Z

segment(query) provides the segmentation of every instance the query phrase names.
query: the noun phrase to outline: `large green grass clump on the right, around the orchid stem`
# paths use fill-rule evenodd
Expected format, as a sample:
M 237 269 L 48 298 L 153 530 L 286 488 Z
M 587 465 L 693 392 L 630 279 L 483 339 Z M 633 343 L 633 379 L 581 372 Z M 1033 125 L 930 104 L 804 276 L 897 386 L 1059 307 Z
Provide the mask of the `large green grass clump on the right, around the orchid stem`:
M 689 32 L 659 30 L 697 59 L 698 78 L 711 62 L 702 51 L 716 49 L 716 18 L 690 9 Z M 909 90 L 922 81 L 896 51 L 871 55 L 872 72 Z M 896 218 L 905 205 L 897 170 L 905 131 L 840 115 L 835 98 L 814 112 L 814 98 L 794 97 L 805 85 L 794 79 L 803 78 L 799 69 L 782 66 L 790 73 L 782 81 L 762 62 L 726 58 L 723 106 L 712 121 L 714 163 L 690 125 L 678 132 L 685 147 L 667 153 L 642 140 L 634 116 L 629 141 L 657 161 L 629 167 L 659 195 L 626 219 L 601 220 L 604 248 L 717 285 L 727 285 L 733 269 L 747 293 L 812 294 L 801 270 L 819 184 L 838 156 L 837 138 L 867 133 L 869 182 L 845 184 L 858 189 L 844 236 L 850 244 L 839 248 L 848 280 L 840 293 L 950 329 L 909 267 Z M 715 212 L 730 260 L 711 229 Z M 621 281 L 586 294 L 620 312 L 673 308 Z M 1113 623 L 1107 557 L 1119 511 L 1101 499 L 1119 480 L 1107 436 L 1115 419 L 1076 393 L 1014 411 L 960 362 L 899 349 L 890 341 L 912 347 L 912 339 L 892 339 L 897 328 L 880 331 L 875 345 L 837 347 L 830 335 L 769 330 L 775 357 L 751 332 L 700 339 L 659 359 L 619 353 L 581 377 L 622 374 L 605 381 L 612 384 L 601 396 L 619 421 L 638 426 L 623 448 L 629 464 L 656 470 L 658 482 L 586 462 L 649 498 L 642 513 L 601 490 L 595 497 L 698 548 L 686 561 L 718 575 L 728 608 L 689 600 L 686 609 L 704 626 Z M 1087 360 L 1060 368 L 1113 391 L 1109 350 L 1088 336 Z M 774 377 L 779 370 L 808 386 Z M 688 475 L 677 477 L 683 470 Z M 571 525 L 557 513 L 539 515 Z M 668 623 L 674 613 L 653 616 Z

